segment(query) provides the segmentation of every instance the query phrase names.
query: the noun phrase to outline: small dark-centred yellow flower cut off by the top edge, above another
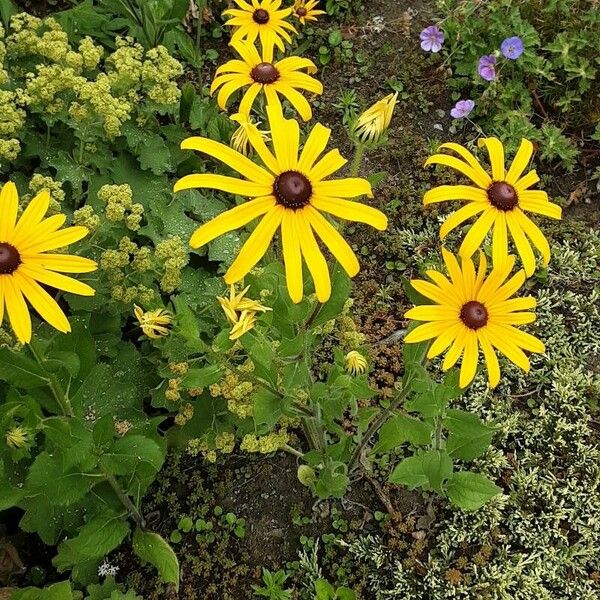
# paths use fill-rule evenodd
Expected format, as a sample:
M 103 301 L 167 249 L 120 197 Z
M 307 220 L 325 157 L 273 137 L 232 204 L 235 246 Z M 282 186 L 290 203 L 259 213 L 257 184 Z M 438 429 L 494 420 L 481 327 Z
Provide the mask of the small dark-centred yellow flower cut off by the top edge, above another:
M 234 2 L 239 9 L 232 8 L 223 11 L 224 15 L 232 17 L 225 25 L 236 28 L 231 37 L 232 42 L 246 40 L 254 44 L 256 38 L 260 38 L 262 49 L 271 53 L 274 46 L 277 46 L 282 52 L 285 51 L 284 40 L 289 44 L 292 43 L 288 31 L 293 33 L 297 33 L 297 31 L 285 20 L 291 14 L 292 9 L 278 10 L 281 0 L 252 0 L 252 5 L 244 0 L 234 0 Z

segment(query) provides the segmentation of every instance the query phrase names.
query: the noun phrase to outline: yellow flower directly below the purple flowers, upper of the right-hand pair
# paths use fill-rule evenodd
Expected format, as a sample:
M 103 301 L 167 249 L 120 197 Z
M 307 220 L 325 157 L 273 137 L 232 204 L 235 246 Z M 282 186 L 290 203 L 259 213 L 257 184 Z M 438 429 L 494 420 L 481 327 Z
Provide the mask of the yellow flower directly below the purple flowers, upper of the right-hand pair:
M 441 185 L 428 191 L 423 202 L 425 204 L 445 200 L 468 202 L 466 206 L 446 219 L 440 229 L 440 237 L 444 239 L 461 223 L 481 213 L 463 239 L 459 254 L 465 258 L 472 256 L 488 231 L 493 228 L 492 258 L 494 267 L 499 267 L 508 256 L 508 232 L 510 232 L 525 273 L 530 277 L 535 271 L 535 257 L 530 241 L 540 251 L 544 265 L 550 261 L 550 246 L 544 234 L 525 212 L 560 219 L 562 210 L 560 206 L 548 200 L 546 192 L 529 189 L 539 181 L 535 171 L 529 171 L 527 175 L 521 176 L 533 153 L 533 144 L 529 140 L 521 141 L 521 146 L 508 171 L 504 170 L 504 148 L 498 139 L 483 138 L 479 140 L 479 145 L 487 148 L 492 166 L 491 177 L 466 148 L 454 143 L 442 144 L 440 148 L 456 152 L 462 160 L 448 154 L 435 154 L 427 159 L 425 166 L 446 165 L 471 179 L 477 187 Z

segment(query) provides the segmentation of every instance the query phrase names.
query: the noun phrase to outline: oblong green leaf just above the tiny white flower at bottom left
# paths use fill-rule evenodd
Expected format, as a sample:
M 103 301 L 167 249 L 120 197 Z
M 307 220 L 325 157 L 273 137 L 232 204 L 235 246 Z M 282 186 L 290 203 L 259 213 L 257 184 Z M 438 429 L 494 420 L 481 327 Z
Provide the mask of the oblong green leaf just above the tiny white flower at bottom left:
M 100 560 L 117 548 L 129 533 L 121 515 L 102 514 L 86 523 L 77 537 L 62 542 L 52 564 L 60 571 L 78 564 Z

